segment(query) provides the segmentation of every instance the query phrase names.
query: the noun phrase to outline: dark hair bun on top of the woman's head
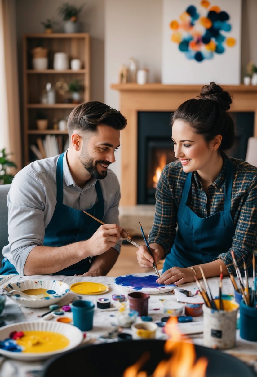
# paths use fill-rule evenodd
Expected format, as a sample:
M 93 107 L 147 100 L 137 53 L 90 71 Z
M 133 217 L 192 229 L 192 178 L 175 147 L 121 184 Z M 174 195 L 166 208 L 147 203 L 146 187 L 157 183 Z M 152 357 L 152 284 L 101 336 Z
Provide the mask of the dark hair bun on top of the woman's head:
M 210 100 L 218 103 L 225 110 L 230 109 L 232 103 L 232 96 L 215 83 L 210 83 L 210 85 L 204 85 L 201 89 L 200 95 L 197 96 L 203 100 Z

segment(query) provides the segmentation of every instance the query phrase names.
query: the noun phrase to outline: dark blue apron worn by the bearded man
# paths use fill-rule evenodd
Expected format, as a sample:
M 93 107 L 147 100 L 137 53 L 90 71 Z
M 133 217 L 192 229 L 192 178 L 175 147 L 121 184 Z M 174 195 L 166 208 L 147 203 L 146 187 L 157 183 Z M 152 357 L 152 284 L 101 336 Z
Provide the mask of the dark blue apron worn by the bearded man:
M 54 214 L 45 229 L 44 246 L 60 247 L 89 239 L 101 224 L 90 218 L 82 210 L 76 210 L 63 204 L 63 156 L 57 162 L 57 203 Z M 88 213 L 102 220 L 104 217 L 104 199 L 99 181 L 95 184 L 98 202 L 92 208 L 85 209 Z M 77 246 L 74 246 L 77 247 Z M 90 268 L 90 258 L 75 263 L 53 275 L 84 274 Z M 4 258 L 0 274 L 18 274 L 14 266 Z

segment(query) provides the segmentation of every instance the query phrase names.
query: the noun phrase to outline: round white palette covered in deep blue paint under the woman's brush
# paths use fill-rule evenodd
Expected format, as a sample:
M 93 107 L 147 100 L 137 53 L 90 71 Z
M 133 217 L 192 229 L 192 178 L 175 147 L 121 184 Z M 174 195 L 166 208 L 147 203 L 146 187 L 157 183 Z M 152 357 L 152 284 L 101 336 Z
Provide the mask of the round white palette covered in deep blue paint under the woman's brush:
M 174 284 L 158 284 L 155 281 L 156 279 L 156 275 L 138 273 L 118 276 L 115 278 L 114 283 L 123 291 L 137 291 L 149 294 L 170 292 L 177 287 Z

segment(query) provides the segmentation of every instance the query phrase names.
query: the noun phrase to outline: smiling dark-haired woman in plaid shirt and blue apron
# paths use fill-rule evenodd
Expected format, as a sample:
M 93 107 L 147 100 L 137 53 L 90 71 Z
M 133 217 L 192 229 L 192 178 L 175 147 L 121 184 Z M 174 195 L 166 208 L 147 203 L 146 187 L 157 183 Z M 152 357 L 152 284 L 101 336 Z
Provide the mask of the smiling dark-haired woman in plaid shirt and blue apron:
M 199 99 L 185 101 L 171 120 L 177 161 L 165 166 L 156 189 L 156 207 L 148 243 L 137 251 L 141 267 L 165 258 L 160 284 L 182 284 L 235 273 L 252 263 L 257 239 L 257 168 L 229 158 L 234 123 L 231 96 L 210 83 Z M 176 231 L 177 227 L 177 231 Z M 194 268 L 193 268 L 194 267 Z M 195 271 L 194 271 L 195 270 Z

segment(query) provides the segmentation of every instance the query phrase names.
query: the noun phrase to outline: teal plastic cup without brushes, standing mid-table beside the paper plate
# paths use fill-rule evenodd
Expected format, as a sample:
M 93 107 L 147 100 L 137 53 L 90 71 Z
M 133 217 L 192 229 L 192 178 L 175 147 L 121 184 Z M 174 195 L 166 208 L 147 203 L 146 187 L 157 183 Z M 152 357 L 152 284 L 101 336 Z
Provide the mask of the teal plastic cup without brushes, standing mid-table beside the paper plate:
M 95 305 L 92 301 L 78 300 L 70 304 L 73 325 L 81 331 L 89 331 L 93 328 L 93 316 Z

